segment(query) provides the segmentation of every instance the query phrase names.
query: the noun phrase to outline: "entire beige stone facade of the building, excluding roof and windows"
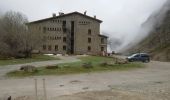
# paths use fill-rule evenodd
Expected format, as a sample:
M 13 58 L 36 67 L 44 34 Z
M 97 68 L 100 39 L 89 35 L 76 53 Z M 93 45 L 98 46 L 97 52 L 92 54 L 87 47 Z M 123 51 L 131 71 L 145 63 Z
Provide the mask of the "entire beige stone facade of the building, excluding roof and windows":
M 66 21 L 66 32 L 63 32 L 62 29 L 63 21 Z M 99 36 L 100 23 L 96 20 L 73 14 L 72 16 L 54 18 L 29 25 L 29 29 L 42 34 L 44 37 L 43 43 L 38 48 L 40 52 L 56 54 L 68 53 L 70 47 L 71 21 L 75 23 L 74 54 L 100 54 L 101 46 L 104 47 L 104 50 L 107 50 L 107 45 L 101 43 L 101 36 Z M 89 34 L 89 30 L 91 30 L 91 34 Z M 66 37 L 66 42 L 63 42 L 63 37 Z M 88 43 L 88 38 L 91 38 L 91 43 Z M 104 39 L 107 41 L 107 38 Z M 50 46 L 51 50 L 49 50 Z M 58 46 L 57 50 L 55 46 Z M 66 50 L 63 50 L 63 46 L 66 46 Z M 88 50 L 88 47 L 90 47 L 91 50 Z

